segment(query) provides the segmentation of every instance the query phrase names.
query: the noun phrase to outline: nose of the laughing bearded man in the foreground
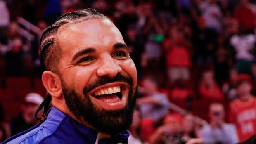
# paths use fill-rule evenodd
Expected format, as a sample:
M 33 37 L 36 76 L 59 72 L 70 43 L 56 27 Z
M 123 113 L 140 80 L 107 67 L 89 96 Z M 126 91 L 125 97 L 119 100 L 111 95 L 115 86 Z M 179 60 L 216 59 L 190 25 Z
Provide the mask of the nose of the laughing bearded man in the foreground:
M 109 56 L 104 56 L 102 59 L 100 67 L 97 69 L 97 75 L 99 77 L 107 76 L 109 78 L 113 78 L 120 73 L 122 68 L 114 61 L 114 59 Z

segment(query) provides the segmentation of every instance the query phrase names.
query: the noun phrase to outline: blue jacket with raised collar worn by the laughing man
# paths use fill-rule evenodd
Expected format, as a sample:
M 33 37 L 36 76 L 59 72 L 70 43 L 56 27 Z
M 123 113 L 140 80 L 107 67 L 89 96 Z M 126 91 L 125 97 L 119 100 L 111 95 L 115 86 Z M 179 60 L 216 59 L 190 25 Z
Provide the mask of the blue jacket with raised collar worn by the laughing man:
M 1 144 L 95 144 L 99 135 L 97 131 L 52 107 L 43 123 L 14 135 Z M 98 144 L 127 144 L 128 137 L 129 133 L 125 131 L 117 136 L 99 139 Z

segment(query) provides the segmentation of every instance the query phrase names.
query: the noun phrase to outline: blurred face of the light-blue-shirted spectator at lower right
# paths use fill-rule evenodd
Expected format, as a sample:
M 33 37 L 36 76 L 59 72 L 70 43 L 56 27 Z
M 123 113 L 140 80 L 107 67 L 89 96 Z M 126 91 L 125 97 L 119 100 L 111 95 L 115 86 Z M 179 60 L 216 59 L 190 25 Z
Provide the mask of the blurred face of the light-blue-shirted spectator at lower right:
M 222 104 L 211 104 L 209 109 L 211 122 L 220 123 L 224 120 L 224 107 Z

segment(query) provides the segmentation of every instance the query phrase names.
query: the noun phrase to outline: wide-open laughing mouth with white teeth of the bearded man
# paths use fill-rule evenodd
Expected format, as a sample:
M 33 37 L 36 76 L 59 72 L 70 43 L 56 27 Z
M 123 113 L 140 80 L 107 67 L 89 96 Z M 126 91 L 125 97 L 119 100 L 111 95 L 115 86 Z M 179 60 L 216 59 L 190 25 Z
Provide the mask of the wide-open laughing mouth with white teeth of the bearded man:
M 108 83 L 92 90 L 92 101 L 105 109 L 121 109 L 128 98 L 128 84 L 124 82 Z

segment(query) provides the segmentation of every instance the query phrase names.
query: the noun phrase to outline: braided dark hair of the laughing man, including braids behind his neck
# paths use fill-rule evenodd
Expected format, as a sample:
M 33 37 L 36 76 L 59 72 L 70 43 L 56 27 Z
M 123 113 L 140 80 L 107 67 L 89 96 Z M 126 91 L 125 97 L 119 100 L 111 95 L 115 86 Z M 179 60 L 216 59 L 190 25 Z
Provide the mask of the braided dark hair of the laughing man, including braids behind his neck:
M 97 12 L 95 9 L 83 9 L 74 12 L 69 12 L 60 16 L 52 26 L 43 31 L 40 38 L 40 64 L 45 70 L 59 73 L 59 59 L 62 54 L 62 49 L 59 46 L 57 39 L 57 31 L 60 27 L 68 28 L 73 24 L 77 24 L 83 21 L 91 19 L 108 19 L 103 14 Z M 46 113 L 49 108 L 49 104 L 52 100 L 50 94 L 48 94 L 44 101 L 40 104 L 35 112 L 35 118 L 42 121 L 47 118 Z M 38 117 L 38 112 L 43 109 L 43 113 Z

